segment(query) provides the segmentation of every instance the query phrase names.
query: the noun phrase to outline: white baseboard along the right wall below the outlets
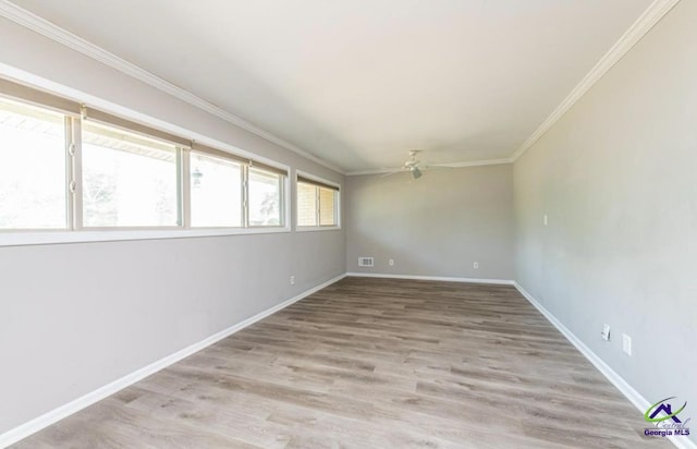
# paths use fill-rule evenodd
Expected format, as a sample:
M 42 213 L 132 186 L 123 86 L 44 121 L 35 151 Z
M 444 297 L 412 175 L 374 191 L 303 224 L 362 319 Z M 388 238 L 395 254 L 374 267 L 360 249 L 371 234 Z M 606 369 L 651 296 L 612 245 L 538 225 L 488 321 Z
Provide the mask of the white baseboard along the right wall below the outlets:
M 564 326 L 551 312 L 549 312 L 542 304 L 540 304 L 530 293 L 525 291 L 519 283 L 513 282 L 513 286 L 521 292 L 526 300 L 530 302 L 543 316 L 547 318 L 564 337 L 568 340 L 576 349 L 586 357 L 590 363 L 594 364 L 598 371 L 614 385 L 617 390 L 625 398 L 632 402 L 632 404 L 639 411 L 641 414 L 646 412 L 646 410 L 651 405 L 651 403 L 644 398 L 637 390 L 635 390 L 626 380 L 624 380 L 617 373 L 614 372 L 607 363 L 604 363 L 595 352 L 590 350 L 583 341 L 578 339 L 568 330 L 566 326 Z M 687 437 L 667 437 L 671 440 L 675 447 L 681 449 L 697 449 L 697 445 L 695 445 L 692 440 L 687 439 Z

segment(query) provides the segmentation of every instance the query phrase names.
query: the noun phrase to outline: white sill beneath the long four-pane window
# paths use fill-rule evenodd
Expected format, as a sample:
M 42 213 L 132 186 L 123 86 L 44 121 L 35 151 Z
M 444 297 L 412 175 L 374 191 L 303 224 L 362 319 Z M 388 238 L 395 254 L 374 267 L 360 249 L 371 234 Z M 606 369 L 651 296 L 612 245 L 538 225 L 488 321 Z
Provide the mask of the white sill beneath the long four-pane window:
M 62 243 L 121 242 L 129 240 L 192 239 L 247 234 L 291 232 L 288 227 L 274 228 L 219 228 L 219 229 L 144 229 L 144 230 L 88 230 L 88 231 L 21 231 L 0 232 L 1 246 L 54 245 Z

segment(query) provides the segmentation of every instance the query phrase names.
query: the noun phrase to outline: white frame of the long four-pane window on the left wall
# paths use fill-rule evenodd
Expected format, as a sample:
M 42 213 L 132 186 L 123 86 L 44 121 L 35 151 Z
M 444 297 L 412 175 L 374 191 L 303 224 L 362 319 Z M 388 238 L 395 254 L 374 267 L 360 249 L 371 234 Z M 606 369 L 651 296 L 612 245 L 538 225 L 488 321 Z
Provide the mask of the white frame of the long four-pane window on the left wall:
M 12 86 L 14 84 L 14 86 Z M 259 170 L 278 171 L 281 174 L 280 187 L 282 189 L 280 197 L 280 217 L 283 222 L 280 226 L 248 226 L 248 210 L 246 203 L 243 203 L 243 227 L 216 227 L 216 228 L 203 228 L 191 226 L 191 146 L 178 145 L 178 198 L 179 198 L 179 225 L 171 227 L 93 227 L 83 228 L 83 202 L 82 202 L 82 122 L 84 118 L 81 114 L 62 110 L 63 104 L 75 107 L 75 101 L 65 100 L 62 97 L 54 96 L 53 94 L 44 94 L 34 87 L 25 87 L 13 82 L 3 81 L 0 78 L 0 86 L 9 88 L 16 88 L 22 96 L 14 95 L 13 92 L 0 90 L 0 96 L 8 97 L 12 100 L 34 105 L 47 109 L 56 109 L 65 114 L 65 157 L 66 157 L 66 173 L 65 173 L 65 189 L 68 192 L 66 197 L 66 228 L 60 229 L 3 229 L 0 230 L 0 247 L 2 246 L 19 246 L 19 245 L 41 245 L 41 244 L 57 244 L 57 243 L 80 243 L 80 242 L 109 242 L 109 241 L 124 241 L 124 240 L 154 240 L 154 239 L 184 239 L 196 236 L 218 236 L 218 235 L 245 235 L 245 234 L 266 234 L 266 233 L 285 233 L 291 232 L 292 220 L 292 207 L 291 207 L 291 167 L 276 162 L 273 160 L 258 157 L 243 149 L 220 143 L 217 141 L 207 139 L 213 142 L 212 148 L 217 151 L 219 157 L 225 157 L 232 160 L 243 160 L 243 182 L 246 183 L 248 179 L 248 168 L 254 165 Z M 71 95 L 72 96 L 72 95 Z M 39 100 L 35 100 L 39 98 Z M 42 99 L 48 98 L 49 102 L 41 102 Z M 99 102 L 99 101 L 98 101 Z M 54 106 L 57 105 L 57 106 Z M 61 109 L 58 109 L 61 108 Z M 84 109 L 84 108 L 83 108 Z M 72 110 L 72 109 L 71 109 Z M 108 109 L 103 109 L 108 111 Z M 84 112 L 83 112 L 84 113 Z M 110 112 L 95 111 L 95 113 L 108 117 Z M 118 112 L 120 117 L 123 117 L 124 122 L 129 122 L 130 117 L 134 118 L 133 122 L 136 129 L 126 129 L 129 132 L 136 134 L 143 134 L 149 138 L 161 139 L 159 137 L 159 129 L 167 130 L 169 125 L 161 123 L 156 119 L 144 119 L 143 114 L 129 110 L 129 113 L 124 113 L 123 110 Z M 114 116 L 115 117 L 115 116 Z M 152 125 L 155 134 L 148 134 L 143 132 L 138 126 L 143 129 L 149 129 L 148 122 L 157 123 Z M 142 125 L 139 125 L 142 123 Z M 108 125 L 119 124 L 106 123 Z M 173 125 L 171 126 L 173 128 Z M 167 131 L 161 133 L 168 134 Z M 183 133 L 181 130 L 174 131 L 172 135 L 187 135 L 194 133 Z M 201 138 L 200 135 L 195 135 L 197 138 Z M 206 139 L 203 137 L 203 139 Z M 168 141 L 166 141 L 168 142 Z M 193 139 L 191 141 L 193 143 Z M 218 149 L 220 148 L 220 149 Z M 205 153 L 205 151 L 200 151 Z M 242 155 L 245 156 L 242 156 Z M 247 194 L 246 184 L 242 186 L 243 196 Z

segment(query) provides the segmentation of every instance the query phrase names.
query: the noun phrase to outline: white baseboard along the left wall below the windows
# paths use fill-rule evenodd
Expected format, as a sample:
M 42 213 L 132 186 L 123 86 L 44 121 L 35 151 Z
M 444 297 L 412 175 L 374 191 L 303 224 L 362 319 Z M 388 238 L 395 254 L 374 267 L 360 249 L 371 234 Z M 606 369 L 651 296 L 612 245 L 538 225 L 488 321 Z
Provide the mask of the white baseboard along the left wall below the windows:
M 234 326 L 231 326 L 224 330 L 221 330 L 218 333 L 215 333 L 208 338 L 206 338 L 205 340 L 201 340 L 197 343 L 194 343 L 189 347 L 186 347 L 180 351 L 176 351 L 173 354 L 170 354 L 168 356 L 166 356 L 164 359 L 160 359 L 157 362 L 154 362 L 147 366 L 142 367 L 138 371 L 135 371 L 124 377 L 121 377 L 120 379 L 117 379 L 108 385 L 105 385 L 103 387 L 100 387 L 98 389 L 96 389 L 95 391 L 91 391 L 81 398 L 75 399 L 74 401 L 71 401 L 64 405 L 59 406 L 58 409 L 51 410 L 48 413 L 42 414 L 41 416 L 38 416 L 27 423 L 24 423 L 22 425 L 20 425 L 19 427 L 15 427 L 11 430 L 8 430 L 7 433 L 0 435 L 0 448 L 7 448 L 10 445 L 13 445 L 26 437 L 28 437 L 32 434 L 35 434 L 48 426 L 50 426 L 51 424 L 54 424 L 70 415 L 72 415 L 73 413 L 76 413 L 98 401 L 101 401 L 102 399 L 108 398 L 109 396 L 126 388 L 130 387 L 131 385 L 137 383 L 138 380 L 142 380 L 179 361 L 181 361 L 182 359 L 185 359 L 220 340 L 222 340 L 223 338 L 230 337 L 231 335 L 244 329 L 247 326 L 250 326 L 257 321 L 259 321 L 260 319 L 266 318 L 267 316 L 274 314 L 276 312 L 288 307 L 289 305 L 306 298 L 309 296 L 310 294 L 328 287 L 331 286 L 332 283 L 345 278 L 346 275 L 340 275 L 333 279 L 330 279 L 326 282 L 320 283 L 319 286 L 316 286 L 309 290 L 304 291 L 303 293 L 291 298 L 290 300 L 286 300 L 278 305 L 274 305 L 273 307 L 267 308 L 264 312 L 260 312 L 256 315 L 254 315 L 253 317 L 249 317 L 247 319 L 245 319 L 244 321 L 237 323 Z

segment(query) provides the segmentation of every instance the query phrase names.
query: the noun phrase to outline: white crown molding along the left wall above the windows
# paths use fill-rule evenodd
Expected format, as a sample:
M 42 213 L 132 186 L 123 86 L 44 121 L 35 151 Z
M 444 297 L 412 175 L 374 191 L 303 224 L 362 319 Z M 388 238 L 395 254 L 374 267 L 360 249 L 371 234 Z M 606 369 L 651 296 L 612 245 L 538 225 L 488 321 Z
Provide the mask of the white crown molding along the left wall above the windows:
M 290 151 L 293 151 L 304 158 L 307 158 L 320 166 L 327 167 L 333 171 L 337 171 L 341 174 L 344 174 L 343 170 L 334 165 L 313 155 L 311 153 L 294 145 L 266 130 L 262 130 L 246 120 L 241 119 L 240 117 L 228 112 L 227 110 L 219 108 L 218 106 L 206 101 L 205 99 L 192 94 L 188 90 L 185 90 L 181 87 L 175 86 L 174 84 L 162 80 L 161 77 L 140 69 L 139 66 L 119 58 L 118 56 L 105 50 L 101 47 L 98 47 L 80 36 L 76 36 L 70 33 L 66 29 L 61 28 L 60 26 L 42 19 L 23 8 L 17 7 L 16 4 L 10 2 L 9 0 L 0 0 L 0 16 L 5 17 L 17 25 L 24 26 L 33 32 L 40 34 L 58 44 L 61 44 L 72 50 L 78 51 L 84 56 L 94 59 L 105 65 L 110 66 L 111 69 L 118 70 L 119 72 L 131 76 L 135 80 L 138 80 L 151 87 L 157 88 L 166 94 L 171 95 L 191 106 L 194 106 L 198 109 L 201 109 L 219 119 L 222 119 L 229 123 L 234 124 L 245 131 L 248 131 L 257 136 L 269 141 L 276 145 L 279 145 Z

